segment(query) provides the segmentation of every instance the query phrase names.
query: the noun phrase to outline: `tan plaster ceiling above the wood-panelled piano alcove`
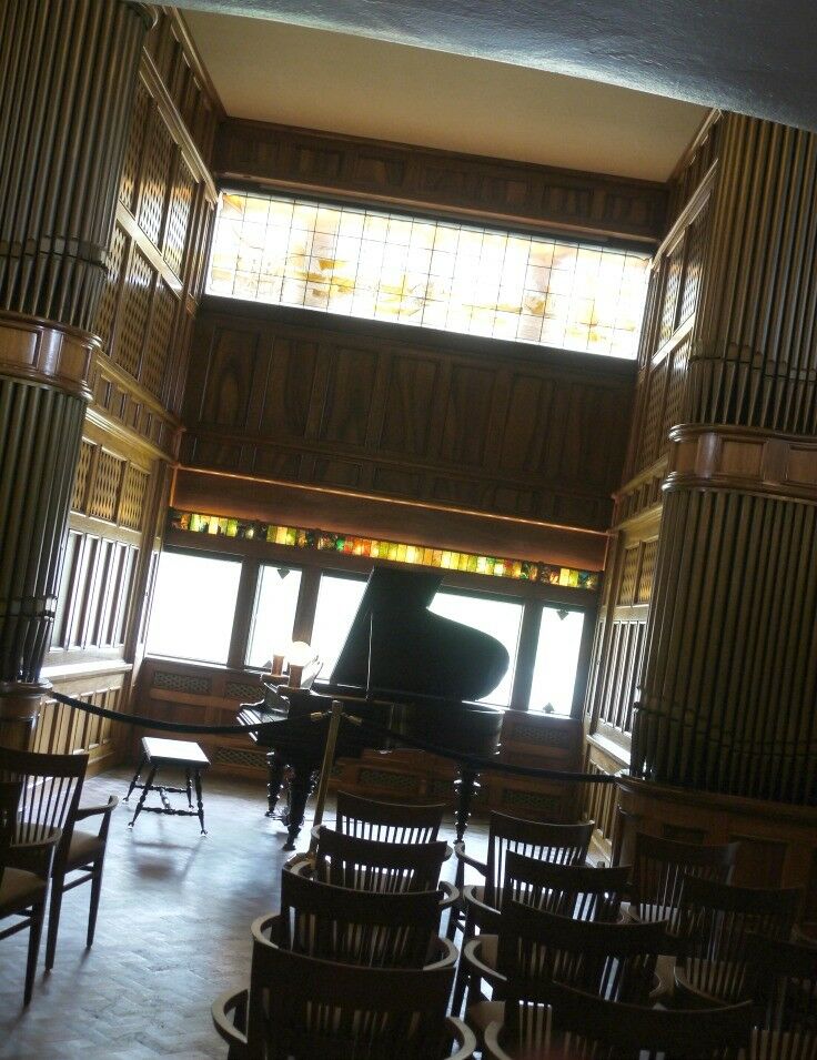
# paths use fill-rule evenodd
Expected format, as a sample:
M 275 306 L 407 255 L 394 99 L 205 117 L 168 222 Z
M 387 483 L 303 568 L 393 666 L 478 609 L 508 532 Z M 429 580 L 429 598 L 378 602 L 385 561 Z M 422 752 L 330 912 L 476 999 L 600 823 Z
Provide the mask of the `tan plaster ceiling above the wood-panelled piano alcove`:
M 235 118 L 666 180 L 706 109 L 564 74 L 186 11 Z

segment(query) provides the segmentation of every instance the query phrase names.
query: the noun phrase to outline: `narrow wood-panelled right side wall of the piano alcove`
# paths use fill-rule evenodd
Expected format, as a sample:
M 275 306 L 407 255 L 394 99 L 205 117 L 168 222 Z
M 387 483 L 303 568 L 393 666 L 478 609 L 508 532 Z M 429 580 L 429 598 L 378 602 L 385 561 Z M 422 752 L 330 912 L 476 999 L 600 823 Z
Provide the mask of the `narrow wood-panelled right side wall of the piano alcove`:
M 638 355 L 635 410 L 624 483 L 616 493 L 613 543 L 593 649 L 586 710 L 587 768 L 629 763 L 633 708 L 647 643 L 664 482 L 672 428 L 683 422 L 690 336 L 704 283 L 720 115 L 704 124 L 670 182 L 672 228 L 653 263 Z M 613 787 L 589 788 L 596 842 L 611 854 Z

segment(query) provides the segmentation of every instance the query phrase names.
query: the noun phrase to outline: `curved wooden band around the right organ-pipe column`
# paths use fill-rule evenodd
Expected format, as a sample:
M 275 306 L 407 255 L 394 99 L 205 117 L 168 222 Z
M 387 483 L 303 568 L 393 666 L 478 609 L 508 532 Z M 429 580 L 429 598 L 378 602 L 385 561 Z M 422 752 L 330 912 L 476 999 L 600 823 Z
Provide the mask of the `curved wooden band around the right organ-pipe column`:
M 739 489 L 817 504 L 817 442 L 749 427 L 682 425 L 669 434 L 664 491 Z

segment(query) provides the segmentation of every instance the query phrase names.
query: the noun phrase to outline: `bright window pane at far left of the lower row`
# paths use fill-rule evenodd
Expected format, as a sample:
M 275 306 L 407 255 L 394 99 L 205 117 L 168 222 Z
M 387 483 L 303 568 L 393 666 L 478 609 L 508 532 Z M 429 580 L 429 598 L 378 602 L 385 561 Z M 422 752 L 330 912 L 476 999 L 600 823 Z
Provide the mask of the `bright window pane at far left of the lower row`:
M 226 663 L 241 563 L 163 552 L 148 628 L 148 652 Z

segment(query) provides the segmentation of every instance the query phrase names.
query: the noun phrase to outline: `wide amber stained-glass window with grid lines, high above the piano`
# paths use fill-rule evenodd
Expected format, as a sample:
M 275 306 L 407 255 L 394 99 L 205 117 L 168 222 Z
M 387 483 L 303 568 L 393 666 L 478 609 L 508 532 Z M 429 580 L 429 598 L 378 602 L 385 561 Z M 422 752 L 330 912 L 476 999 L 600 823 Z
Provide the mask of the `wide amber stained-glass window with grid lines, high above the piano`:
M 208 292 L 634 359 L 649 255 L 224 192 Z

